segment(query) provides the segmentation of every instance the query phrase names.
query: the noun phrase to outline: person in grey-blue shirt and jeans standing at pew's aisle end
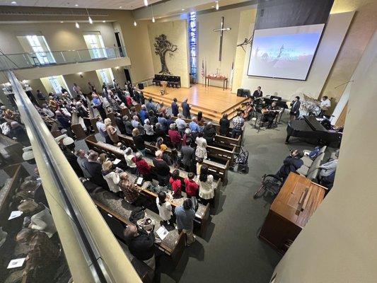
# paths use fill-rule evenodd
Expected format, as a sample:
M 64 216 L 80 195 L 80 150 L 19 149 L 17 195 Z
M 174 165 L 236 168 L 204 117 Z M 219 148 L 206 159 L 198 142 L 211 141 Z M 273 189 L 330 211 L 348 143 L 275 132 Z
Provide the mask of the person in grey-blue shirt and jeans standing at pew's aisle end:
M 192 233 L 192 230 L 194 229 L 195 210 L 192 209 L 192 202 L 190 199 L 186 199 L 182 205 L 175 208 L 175 216 L 177 218 L 178 232 L 186 234 L 186 246 L 190 246 L 195 242 L 195 237 Z

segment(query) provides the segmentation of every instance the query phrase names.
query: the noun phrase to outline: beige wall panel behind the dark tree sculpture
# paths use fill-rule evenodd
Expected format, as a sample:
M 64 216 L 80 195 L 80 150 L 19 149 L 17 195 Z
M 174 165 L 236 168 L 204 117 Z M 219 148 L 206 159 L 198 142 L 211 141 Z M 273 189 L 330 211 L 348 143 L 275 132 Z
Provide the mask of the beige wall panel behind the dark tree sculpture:
M 166 65 L 172 75 L 180 76 L 182 87 L 190 87 L 189 57 L 187 50 L 187 21 L 168 21 L 165 23 L 150 23 L 148 25 L 149 42 L 151 45 L 151 54 L 153 60 L 154 74 L 160 74 L 161 62 L 160 57 L 154 52 L 155 37 L 161 34 L 166 35 L 173 45 L 177 45 L 177 51 L 173 56 L 166 53 Z

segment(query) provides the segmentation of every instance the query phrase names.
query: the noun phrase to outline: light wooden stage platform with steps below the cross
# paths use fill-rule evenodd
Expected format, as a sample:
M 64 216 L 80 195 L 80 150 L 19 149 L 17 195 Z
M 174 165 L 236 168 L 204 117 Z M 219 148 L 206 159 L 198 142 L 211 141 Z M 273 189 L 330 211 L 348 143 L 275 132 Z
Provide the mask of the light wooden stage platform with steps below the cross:
M 236 93 L 231 93 L 230 89 L 223 91 L 215 86 L 204 87 L 202 84 L 192 85 L 190 88 L 166 88 L 166 94 L 161 96 L 161 86 L 146 86 L 143 90 L 145 98 L 153 98 L 154 101 L 163 102 L 170 107 L 173 98 L 177 98 L 178 105 L 187 98 L 191 107 L 192 115 L 202 111 L 204 118 L 219 121 L 224 113 L 228 117 L 233 117 L 236 108 L 239 108 L 247 98 L 238 97 Z M 180 110 L 181 106 L 180 106 Z

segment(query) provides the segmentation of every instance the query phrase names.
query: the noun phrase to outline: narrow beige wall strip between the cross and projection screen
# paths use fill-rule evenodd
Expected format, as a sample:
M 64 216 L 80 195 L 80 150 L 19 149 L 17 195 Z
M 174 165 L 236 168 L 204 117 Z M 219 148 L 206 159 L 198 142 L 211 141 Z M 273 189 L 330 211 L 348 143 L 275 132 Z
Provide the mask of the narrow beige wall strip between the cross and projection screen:
M 255 17 L 257 16 L 257 9 L 248 9 L 240 12 L 240 25 L 238 28 L 238 40 L 237 43 L 240 44 L 245 40 L 249 39 L 253 35 Z M 250 46 L 250 45 L 248 45 Z M 243 79 L 243 66 L 246 59 L 246 51 L 248 46 L 236 47 L 236 59 L 234 60 L 234 71 L 233 71 L 233 83 L 232 83 L 232 93 L 237 93 L 237 89 L 240 88 Z

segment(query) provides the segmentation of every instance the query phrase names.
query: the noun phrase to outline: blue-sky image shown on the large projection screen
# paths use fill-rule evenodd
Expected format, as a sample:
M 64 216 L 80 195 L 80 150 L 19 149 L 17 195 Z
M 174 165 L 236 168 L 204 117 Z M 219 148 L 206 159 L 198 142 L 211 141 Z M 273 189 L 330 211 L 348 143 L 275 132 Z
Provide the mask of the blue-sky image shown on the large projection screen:
M 248 76 L 306 80 L 324 26 L 255 30 Z

